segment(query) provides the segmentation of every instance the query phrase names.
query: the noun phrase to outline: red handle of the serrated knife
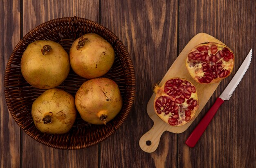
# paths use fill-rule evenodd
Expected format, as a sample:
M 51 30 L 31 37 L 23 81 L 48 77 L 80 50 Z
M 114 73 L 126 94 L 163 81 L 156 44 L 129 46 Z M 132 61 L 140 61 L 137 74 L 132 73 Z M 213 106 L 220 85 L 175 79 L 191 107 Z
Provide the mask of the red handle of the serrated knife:
M 191 148 L 195 146 L 223 102 L 224 100 L 220 99 L 219 97 L 217 98 L 213 106 L 211 106 L 210 110 L 205 114 L 204 118 L 198 123 L 196 128 L 189 135 L 189 138 L 186 140 L 187 146 Z

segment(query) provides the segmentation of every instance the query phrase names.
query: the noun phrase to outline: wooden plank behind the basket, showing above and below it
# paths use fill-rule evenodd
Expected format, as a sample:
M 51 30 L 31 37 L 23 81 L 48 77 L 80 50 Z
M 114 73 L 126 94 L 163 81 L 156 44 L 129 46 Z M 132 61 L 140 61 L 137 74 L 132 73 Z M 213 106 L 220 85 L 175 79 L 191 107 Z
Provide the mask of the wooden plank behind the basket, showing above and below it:
M 54 18 L 79 16 L 97 22 L 99 1 L 23 0 L 23 11 L 23 34 L 25 35 L 30 29 Z M 24 132 L 22 140 L 23 167 L 98 167 L 98 145 L 84 150 L 57 150 L 34 141 Z

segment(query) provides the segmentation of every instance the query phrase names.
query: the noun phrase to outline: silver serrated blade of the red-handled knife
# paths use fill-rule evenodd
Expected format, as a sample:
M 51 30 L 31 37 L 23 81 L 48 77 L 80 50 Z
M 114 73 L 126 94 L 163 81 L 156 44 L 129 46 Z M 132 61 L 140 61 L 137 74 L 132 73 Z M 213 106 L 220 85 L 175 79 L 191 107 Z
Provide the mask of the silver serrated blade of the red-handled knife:
M 246 56 L 245 60 L 243 61 L 242 65 L 236 72 L 235 76 L 231 79 L 225 90 L 220 95 L 220 99 L 222 100 L 229 100 L 232 93 L 240 83 L 241 79 L 245 75 L 245 72 L 247 71 L 250 63 L 252 60 L 252 49 L 250 50 L 249 54 Z

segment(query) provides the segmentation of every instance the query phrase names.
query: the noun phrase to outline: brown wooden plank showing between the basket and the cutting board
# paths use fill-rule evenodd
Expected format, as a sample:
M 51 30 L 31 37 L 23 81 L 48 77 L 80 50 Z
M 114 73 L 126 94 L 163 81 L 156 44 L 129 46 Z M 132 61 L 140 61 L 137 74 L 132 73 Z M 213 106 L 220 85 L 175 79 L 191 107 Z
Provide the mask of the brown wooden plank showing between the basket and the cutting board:
M 175 167 L 176 134 L 165 132 L 151 154 L 139 147 L 153 121 L 146 105 L 152 86 L 177 57 L 177 1 L 101 1 L 101 23 L 124 43 L 135 66 L 136 98 L 125 123 L 101 143 L 101 167 Z

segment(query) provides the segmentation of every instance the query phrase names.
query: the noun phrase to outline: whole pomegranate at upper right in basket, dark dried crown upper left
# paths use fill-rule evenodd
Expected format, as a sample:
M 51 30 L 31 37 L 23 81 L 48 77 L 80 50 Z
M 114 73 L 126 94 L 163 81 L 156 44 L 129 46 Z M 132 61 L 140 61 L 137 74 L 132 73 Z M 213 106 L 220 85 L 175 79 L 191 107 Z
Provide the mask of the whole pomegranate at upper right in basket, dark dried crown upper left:
M 85 34 L 70 48 L 70 64 L 83 78 L 97 78 L 106 74 L 115 60 L 113 47 L 97 34 Z

